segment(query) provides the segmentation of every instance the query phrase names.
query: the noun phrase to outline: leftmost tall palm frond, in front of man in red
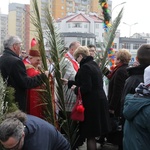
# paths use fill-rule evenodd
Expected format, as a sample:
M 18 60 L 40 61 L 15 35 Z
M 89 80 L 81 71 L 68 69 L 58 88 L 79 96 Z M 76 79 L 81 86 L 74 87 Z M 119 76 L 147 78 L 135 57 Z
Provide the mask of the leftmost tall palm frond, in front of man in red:
M 44 46 L 43 28 L 42 28 L 39 8 L 38 8 L 38 4 L 36 0 L 33 0 L 32 2 L 33 2 L 33 14 L 30 15 L 30 18 L 31 18 L 32 24 L 35 27 L 35 36 L 36 36 L 36 39 L 38 40 L 39 47 L 40 47 L 40 54 L 42 58 L 43 69 L 48 70 L 47 61 L 46 61 L 46 52 L 45 52 L 45 46 Z M 43 88 L 45 89 L 45 91 L 43 91 L 43 93 L 41 94 L 41 99 L 45 107 L 44 115 L 51 124 L 56 126 L 51 87 L 50 87 L 49 79 L 47 77 L 45 77 L 44 83 L 45 84 L 43 85 Z

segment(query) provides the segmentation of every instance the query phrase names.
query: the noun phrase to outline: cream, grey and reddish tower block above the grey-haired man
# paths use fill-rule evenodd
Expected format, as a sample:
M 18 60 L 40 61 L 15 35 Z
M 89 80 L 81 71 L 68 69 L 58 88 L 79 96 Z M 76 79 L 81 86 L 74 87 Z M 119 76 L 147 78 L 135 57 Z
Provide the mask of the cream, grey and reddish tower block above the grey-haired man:
M 22 39 L 23 49 L 29 50 L 30 6 L 10 3 L 8 13 L 8 35 L 17 35 Z

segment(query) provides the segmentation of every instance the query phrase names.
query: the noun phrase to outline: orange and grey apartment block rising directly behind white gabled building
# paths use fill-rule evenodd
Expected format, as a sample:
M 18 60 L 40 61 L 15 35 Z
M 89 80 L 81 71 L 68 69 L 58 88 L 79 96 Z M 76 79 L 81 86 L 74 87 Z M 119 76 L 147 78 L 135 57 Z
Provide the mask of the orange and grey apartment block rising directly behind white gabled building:
M 51 3 L 52 15 L 55 19 L 63 18 L 69 13 L 78 13 L 79 11 L 86 14 L 93 12 L 100 17 L 102 14 L 98 0 L 53 0 Z

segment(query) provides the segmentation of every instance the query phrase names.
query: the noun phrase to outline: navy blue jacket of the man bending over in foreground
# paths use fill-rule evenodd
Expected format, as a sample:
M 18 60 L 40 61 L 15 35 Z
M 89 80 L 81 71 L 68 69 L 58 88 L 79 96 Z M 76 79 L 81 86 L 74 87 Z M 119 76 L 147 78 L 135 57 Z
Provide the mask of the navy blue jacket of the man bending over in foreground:
M 23 150 L 70 150 L 70 144 L 54 126 L 27 115 Z

